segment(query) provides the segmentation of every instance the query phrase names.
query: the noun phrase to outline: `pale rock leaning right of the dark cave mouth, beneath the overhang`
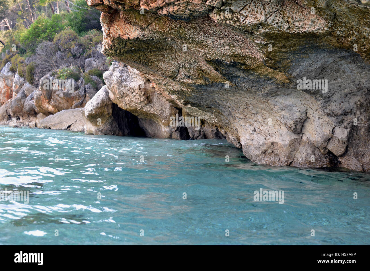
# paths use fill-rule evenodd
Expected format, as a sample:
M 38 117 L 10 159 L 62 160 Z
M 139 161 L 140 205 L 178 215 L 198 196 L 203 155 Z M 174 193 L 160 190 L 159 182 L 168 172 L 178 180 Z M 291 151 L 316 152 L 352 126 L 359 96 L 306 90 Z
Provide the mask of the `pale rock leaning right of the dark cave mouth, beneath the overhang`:
M 183 114 L 181 107 L 176 108 L 177 104 L 170 102 L 173 100 L 171 96 L 163 92 L 161 88 L 156 88 L 155 84 L 151 84 L 149 80 L 142 77 L 136 69 L 126 64 L 114 62 L 103 77 L 104 81 L 107 82 L 105 91 L 109 95 L 111 103 L 134 114 L 138 118 L 138 126 L 147 137 L 224 138 L 217 127 L 204 120 L 199 123 L 199 127 L 195 127 L 195 125 L 171 126 L 170 117 L 176 116 L 176 114 L 186 117 L 189 114 Z M 192 116 L 189 115 L 189 117 Z M 136 121 L 130 117 L 128 122 Z

